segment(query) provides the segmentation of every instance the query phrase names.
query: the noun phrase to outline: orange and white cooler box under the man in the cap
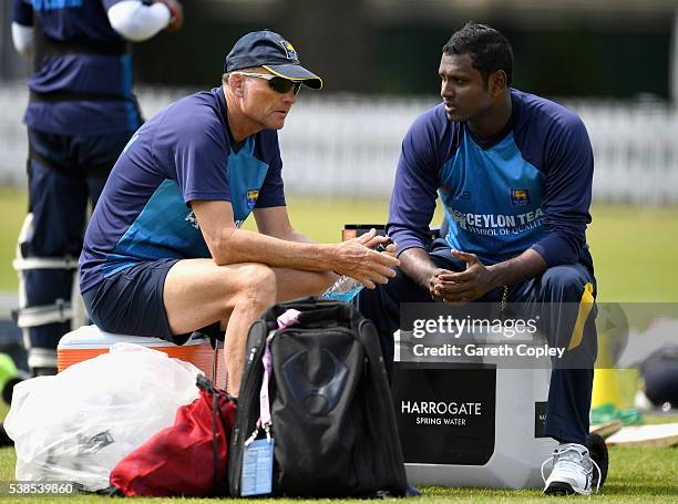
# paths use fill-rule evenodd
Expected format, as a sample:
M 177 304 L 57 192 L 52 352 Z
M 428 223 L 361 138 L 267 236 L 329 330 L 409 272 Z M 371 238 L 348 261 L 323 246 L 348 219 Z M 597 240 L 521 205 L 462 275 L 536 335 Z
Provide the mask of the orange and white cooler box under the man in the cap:
M 215 360 L 214 350 L 207 338 L 191 337 L 184 344 L 174 344 L 161 338 L 142 336 L 113 335 L 102 331 L 96 326 L 83 326 L 63 336 L 56 347 L 56 366 L 59 372 L 83 360 L 106 353 L 114 343 L 136 343 L 167 353 L 170 357 L 191 362 L 219 388 L 226 385 L 224 354 L 219 349 Z M 213 370 L 213 363 L 215 368 Z

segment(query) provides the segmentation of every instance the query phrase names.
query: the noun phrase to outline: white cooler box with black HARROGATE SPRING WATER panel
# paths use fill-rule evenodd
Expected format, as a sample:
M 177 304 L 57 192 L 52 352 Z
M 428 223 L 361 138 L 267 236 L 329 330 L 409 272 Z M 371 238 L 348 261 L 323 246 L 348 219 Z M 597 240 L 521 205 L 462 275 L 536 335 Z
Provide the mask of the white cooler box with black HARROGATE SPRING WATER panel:
M 414 359 L 418 342 L 397 337 L 392 382 L 409 483 L 543 486 L 542 463 L 557 444 L 544 435 L 551 369 L 506 369 L 499 358 Z

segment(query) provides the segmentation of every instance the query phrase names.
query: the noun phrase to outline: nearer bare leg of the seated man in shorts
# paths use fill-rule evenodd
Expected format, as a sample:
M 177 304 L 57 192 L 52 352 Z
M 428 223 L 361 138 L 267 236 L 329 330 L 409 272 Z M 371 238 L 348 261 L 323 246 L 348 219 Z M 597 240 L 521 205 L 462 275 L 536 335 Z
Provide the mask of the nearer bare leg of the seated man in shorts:
M 227 320 L 224 357 L 227 391 L 238 394 L 249 326 L 276 302 L 276 275 L 259 264 L 217 266 L 185 259 L 167 272 L 163 290 L 170 329 L 182 335 Z

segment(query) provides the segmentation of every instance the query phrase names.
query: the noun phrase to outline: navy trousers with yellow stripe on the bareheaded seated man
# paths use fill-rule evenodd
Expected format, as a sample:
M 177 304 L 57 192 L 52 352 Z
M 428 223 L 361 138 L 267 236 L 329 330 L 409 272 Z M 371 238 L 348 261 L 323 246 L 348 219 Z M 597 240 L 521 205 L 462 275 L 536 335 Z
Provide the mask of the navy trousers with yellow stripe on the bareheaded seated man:
M 465 265 L 450 254 L 442 240 L 435 240 L 431 259 L 444 269 L 461 271 Z M 444 245 L 442 245 L 444 244 Z M 400 325 L 400 304 L 433 302 L 428 289 L 394 268 L 397 277 L 377 289 L 362 289 L 356 299 L 359 311 L 371 319 L 379 331 L 384 357 L 392 369 L 393 332 Z M 551 374 L 545 434 L 563 443 L 585 444 L 589 426 L 593 368 L 597 354 L 595 308 L 587 313 L 583 327 L 575 330 L 581 302 L 595 297 L 596 280 L 584 265 L 548 268 L 543 275 L 511 286 L 508 300 L 520 302 L 540 315 L 542 329 L 551 347 L 574 347 L 565 361 Z M 500 302 L 503 289 L 487 292 L 479 301 Z M 576 341 L 573 341 L 573 337 Z M 568 366 L 568 362 L 572 366 Z

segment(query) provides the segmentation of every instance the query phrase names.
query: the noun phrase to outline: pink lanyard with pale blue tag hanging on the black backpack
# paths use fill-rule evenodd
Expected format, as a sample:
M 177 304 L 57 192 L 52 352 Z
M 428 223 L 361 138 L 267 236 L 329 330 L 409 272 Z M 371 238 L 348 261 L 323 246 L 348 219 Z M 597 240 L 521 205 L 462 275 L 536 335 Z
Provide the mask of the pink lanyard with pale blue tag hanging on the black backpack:
M 278 317 L 278 329 L 291 326 L 298 321 L 300 312 L 287 310 Z M 275 453 L 275 440 L 270 435 L 273 419 L 270 416 L 270 402 L 268 398 L 268 382 L 271 373 L 270 341 L 276 331 L 273 330 L 266 338 L 264 350 L 264 379 L 259 391 L 259 419 L 251 435 L 245 441 L 243 451 L 243 472 L 240 473 L 240 495 L 244 497 L 253 495 L 266 495 L 273 493 L 273 463 Z M 257 439 L 259 431 L 264 429 L 266 438 Z

